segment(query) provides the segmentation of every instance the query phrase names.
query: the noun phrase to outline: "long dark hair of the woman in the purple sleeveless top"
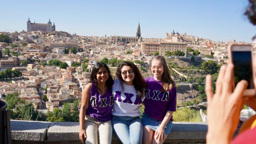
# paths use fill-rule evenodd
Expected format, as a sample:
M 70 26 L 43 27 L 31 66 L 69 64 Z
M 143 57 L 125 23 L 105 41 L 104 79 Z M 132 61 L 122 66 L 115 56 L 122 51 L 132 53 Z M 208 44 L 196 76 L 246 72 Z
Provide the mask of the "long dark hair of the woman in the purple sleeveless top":
M 93 83 L 96 85 L 97 89 L 98 89 L 101 93 L 102 93 L 102 90 L 101 90 L 100 88 L 98 88 L 97 73 L 98 73 L 99 68 L 101 68 L 102 66 L 107 69 L 107 72 L 108 72 L 108 79 L 107 79 L 107 81 L 106 81 L 106 85 L 107 85 L 108 88 L 111 89 L 111 91 L 112 91 L 112 85 L 113 85 L 113 83 L 114 83 L 114 80 L 113 80 L 113 78 L 112 78 L 112 75 L 111 75 L 111 73 L 110 73 L 110 70 L 108 69 L 108 66 L 107 66 L 105 63 L 102 63 L 102 62 L 97 62 L 97 63 L 95 63 L 95 65 L 94 65 L 94 67 L 92 68 L 92 71 L 91 71 L 91 75 L 90 75 L 90 80 L 89 80 L 89 82 L 93 82 Z

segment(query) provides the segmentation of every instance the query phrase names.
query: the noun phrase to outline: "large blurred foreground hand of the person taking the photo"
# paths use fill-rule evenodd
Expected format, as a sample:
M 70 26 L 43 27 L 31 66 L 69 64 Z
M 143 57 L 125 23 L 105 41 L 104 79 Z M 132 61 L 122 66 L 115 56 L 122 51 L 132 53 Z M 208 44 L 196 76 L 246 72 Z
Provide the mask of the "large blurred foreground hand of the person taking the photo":
M 241 80 L 232 92 L 233 69 L 234 65 L 231 63 L 220 68 L 215 94 L 212 91 L 211 76 L 206 77 L 208 144 L 228 144 L 237 127 L 243 106 L 243 94 L 248 84 L 247 81 Z

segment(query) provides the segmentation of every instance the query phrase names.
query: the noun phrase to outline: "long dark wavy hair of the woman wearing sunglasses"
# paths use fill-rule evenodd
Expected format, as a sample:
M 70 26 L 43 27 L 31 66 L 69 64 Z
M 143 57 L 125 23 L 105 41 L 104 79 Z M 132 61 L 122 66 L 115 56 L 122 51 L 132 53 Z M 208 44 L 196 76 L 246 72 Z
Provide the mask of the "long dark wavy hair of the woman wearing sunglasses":
M 142 98 L 144 96 L 144 92 L 146 89 L 146 82 L 143 79 L 142 75 L 140 74 L 139 69 L 137 68 L 137 66 L 131 62 L 122 62 L 117 66 L 117 72 L 116 72 L 116 79 L 121 81 L 121 85 L 123 86 L 123 78 L 122 78 L 122 74 L 121 74 L 121 69 L 123 68 L 123 66 L 130 66 L 132 67 L 133 71 L 134 71 L 134 79 L 133 79 L 133 85 L 138 93 L 138 98 Z

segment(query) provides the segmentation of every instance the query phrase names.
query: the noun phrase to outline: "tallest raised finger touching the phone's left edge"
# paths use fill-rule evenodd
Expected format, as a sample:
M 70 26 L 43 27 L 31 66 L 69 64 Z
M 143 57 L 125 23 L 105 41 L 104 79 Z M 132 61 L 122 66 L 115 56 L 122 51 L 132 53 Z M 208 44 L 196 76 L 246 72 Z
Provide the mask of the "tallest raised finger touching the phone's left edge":
M 234 65 L 231 63 L 228 64 L 228 66 L 226 67 L 224 78 L 223 78 L 224 82 L 222 85 L 223 86 L 222 95 L 224 96 L 227 96 L 232 92 L 233 69 L 234 69 Z

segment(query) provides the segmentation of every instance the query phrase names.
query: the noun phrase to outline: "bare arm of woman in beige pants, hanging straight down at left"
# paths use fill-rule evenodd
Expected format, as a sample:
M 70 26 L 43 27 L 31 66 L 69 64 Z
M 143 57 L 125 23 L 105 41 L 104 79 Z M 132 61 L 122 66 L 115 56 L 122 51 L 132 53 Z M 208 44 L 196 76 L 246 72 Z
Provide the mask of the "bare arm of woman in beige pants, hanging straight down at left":
M 85 86 L 84 90 L 82 91 L 82 101 L 81 101 L 81 110 L 79 114 L 79 138 L 82 143 L 84 136 L 87 138 L 86 131 L 84 129 L 84 121 L 85 121 L 85 114 L 86 114 L 86 109 L 90 100 L 90 90 L 91 90 L 92 84 L 89 83 Z

